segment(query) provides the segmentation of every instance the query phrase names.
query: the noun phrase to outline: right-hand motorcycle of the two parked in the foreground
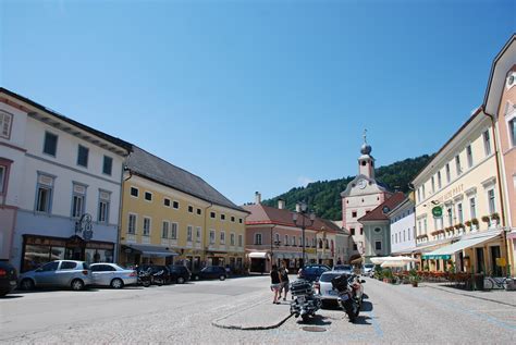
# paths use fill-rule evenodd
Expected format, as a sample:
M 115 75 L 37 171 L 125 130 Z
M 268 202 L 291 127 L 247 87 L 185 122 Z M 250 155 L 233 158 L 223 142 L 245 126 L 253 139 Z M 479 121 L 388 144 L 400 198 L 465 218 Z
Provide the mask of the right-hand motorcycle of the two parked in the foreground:
M 349 322 L 355 322 L 360 313 L 361 303 L 364 299 L 364 287 L 358 276 L 355 274 L 342 274 L 335 276 L 332 286 L 339 292 L 339 306 L 347 313 Z

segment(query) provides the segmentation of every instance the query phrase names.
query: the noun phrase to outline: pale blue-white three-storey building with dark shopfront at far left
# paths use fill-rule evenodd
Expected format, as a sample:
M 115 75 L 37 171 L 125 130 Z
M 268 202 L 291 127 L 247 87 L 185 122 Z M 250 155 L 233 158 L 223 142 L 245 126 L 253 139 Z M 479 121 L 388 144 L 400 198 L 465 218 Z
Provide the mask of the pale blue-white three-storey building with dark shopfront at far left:
M 115 261 L 127 144 L 3 88 L 0 116 L 2 257 Z

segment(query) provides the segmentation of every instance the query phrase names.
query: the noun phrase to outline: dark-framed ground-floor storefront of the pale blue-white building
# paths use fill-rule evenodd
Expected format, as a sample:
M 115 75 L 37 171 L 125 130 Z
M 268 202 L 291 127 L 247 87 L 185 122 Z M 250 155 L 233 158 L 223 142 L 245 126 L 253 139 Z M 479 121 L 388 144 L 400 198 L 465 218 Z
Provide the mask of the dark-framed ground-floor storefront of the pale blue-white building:
M 113 262 L 114 243 L 84 241 L 78 236 L 69 238 L 23 235 L 21 271 L 26 272 L 52 260 L 81 260 Z

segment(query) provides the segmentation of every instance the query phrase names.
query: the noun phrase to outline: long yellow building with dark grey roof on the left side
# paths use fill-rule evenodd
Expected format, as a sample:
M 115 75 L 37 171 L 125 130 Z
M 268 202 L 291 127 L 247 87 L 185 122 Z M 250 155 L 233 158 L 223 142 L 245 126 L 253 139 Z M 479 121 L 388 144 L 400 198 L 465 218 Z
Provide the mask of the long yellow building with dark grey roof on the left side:
M 202 178 L 133 146 L 122 200 L 121 263 L 243 269 L 248 213 Z

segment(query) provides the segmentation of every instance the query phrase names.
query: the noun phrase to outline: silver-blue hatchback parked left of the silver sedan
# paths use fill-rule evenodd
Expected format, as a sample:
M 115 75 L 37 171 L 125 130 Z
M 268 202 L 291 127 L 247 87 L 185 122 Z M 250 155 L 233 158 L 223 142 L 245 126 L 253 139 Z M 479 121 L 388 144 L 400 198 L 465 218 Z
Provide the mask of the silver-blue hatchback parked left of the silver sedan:
M 91 283 L 91 271 L 85 261 L 56 260 L 20 276 L 22 289 L 56 286 L 79 291 Z

